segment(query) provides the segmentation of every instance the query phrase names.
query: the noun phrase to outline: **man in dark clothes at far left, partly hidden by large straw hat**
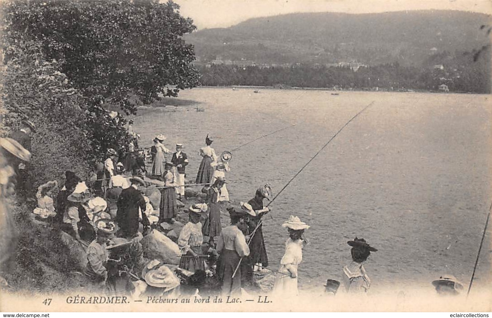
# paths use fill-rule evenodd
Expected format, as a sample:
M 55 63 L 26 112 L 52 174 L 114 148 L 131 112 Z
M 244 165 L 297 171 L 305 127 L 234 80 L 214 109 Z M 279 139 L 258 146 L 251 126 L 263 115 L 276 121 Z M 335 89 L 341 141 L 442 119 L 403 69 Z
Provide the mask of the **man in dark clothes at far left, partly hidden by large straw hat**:
M 21 129 L 12 132 L 9 137 L 31 152 L 31 133 L 35 131 L 34 123 L 30 120 L 24 120 Z M 31 183 L 27 181 L 27 168 L 27 164 L 20 160 L 14 164 L 14 171 L 17 174 L 17 188 L 24 191 L 26 197 L 29 197 L 32 193 Z

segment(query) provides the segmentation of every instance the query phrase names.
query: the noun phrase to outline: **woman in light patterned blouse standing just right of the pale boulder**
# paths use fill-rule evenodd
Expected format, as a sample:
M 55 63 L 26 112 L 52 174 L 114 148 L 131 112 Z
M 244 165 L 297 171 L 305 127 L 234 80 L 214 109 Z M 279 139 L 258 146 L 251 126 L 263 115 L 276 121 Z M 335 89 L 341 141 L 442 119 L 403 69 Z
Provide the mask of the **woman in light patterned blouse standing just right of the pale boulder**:
M 181 229 L 178 237 L 178 246 L 181 249 L 180 267 L 192 272 L 197 269 L 205 270 L 205 257 L 202 244 L 202 217 L 207 212 L 207 204 L 198 203 L 189 207 L 189 222 Z

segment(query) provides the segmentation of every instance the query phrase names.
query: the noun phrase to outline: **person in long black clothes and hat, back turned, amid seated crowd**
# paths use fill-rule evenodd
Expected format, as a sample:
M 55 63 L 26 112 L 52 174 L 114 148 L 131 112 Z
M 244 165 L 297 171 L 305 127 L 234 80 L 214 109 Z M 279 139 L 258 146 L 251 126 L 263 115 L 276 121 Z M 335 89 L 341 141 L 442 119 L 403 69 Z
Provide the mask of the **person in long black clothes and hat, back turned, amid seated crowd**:
M 121 235 L 126 238 L 133 238 L 138 232 L 139 213 L 138 208 L 142 211 L 142 225 L 144 232 L 150 228 L 150 222 L 144 213 L 146 203 L 144 196 L 138 191 L 139 186 L 145 187 L 145 181 L 139 177 L 130 178 L 131 186 L 123 189 L 118 198 L 118 212 L 116 212 L 116 221 L 120 227 Z

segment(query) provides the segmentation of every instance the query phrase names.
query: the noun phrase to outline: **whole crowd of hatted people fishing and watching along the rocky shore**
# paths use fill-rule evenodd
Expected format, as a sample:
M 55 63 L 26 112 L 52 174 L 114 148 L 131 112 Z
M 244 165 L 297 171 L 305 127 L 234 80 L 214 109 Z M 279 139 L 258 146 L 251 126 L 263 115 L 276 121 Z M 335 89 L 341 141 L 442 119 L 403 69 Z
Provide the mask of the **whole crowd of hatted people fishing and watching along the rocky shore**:
M 35 126 L 26 121 L 19 132 L 0 139 L 1 245 L 2 251 L 7 251 L 1 255 L 2 270 L 11 264 L 11 255 L 15 254 L 12 249 L 16 246 L 15 226 L 3 199 L 14 192 L 15 184 L 15 191 L 30 197 L 30 188 L 23 181 L 30 161 L 29 135 L 33 131 Z M 184 175 L 189 162 L 183 145 L 176 144 L 176 151 L 171 155 L 163 144 L 166 137 L 156 136 L 150 150 L 152 164 L 148 172 L 145 151 L 137 145 L 139 136 L 134 133 L 133 136 L 127 152 L 108 149 L 106 160 L 95 165 L 93 176 L 88 181 L 66 171 L 64 185 L 56 200 L 54 192 L 59 188 L 58 181 L 40 185 L 36 193 L 37 207 L 32 211 L 34 219 L 49 221 L 84 244 L 88 261 L 85 274 L 101 287 L 109 279 L 108 262 L 121 261 L 121 257 L 118 259 L 118 254 L 113 253 L 118 251 L 115 247 L 138 244 L 151 231 L 164 232 L 165 224 L 176 223 L 176 200 L 186 200 Z M 239 295 L 243 288 L 255 286 L 255 274 L 262 275 L 265 270 L 271 270 L 268 268 L 262 221 L 272 210 L 264 205 L 265 199 L 272 200 L 272 189 L 265 184 L 255 190 L 254 197 L 249 201 L 240 202 L 239 205 L 230 203 L 225 172 L 230 171 L 232 154 L 224 151 L 217 156 L 212 143 L 213 140 L 207 135 L 206 146 L 198 151 L 203 159 L 193 186 L 201 187 L 206 197 L 202 200 L 204 202 L 190 204 L 185 210 L 189 221 L 181 228 L 176 240 L 181 254 L 179 266 L 164 264 L 163 260 L 151 260 L 142 271 L 141 278 L 148 290 L 154 290 L 154 293 L 176 293 L 176 287 L 180 285 L 180 278 L 183 282 L 183 277 L 193 287 L 213 277 L 220 282 L 222 294 Z M 120 157 L 124 163 L 119 160 Z M 155 209 L 145 196 L 151 183 L 151 180 L 146 181 L 148 177 L 164 184 L 157 188 L 161 197 Z M 222 227 L 221 214 L 225 214 L 225 210 L 230 225 Z M 291 215 L 282 227 L 287 229 L 288 238 L 280 267 L 271 270 L 277 275 L 273 293 L 295 296 L 298 294 L 298 266 L 303 259 L 303 248 L 308 244 L 304 231 L 309 225 Z M 343 285 L 347 293 L 366 294 L 370 280 L 363 263 L 377 249 L 363 238 L 356 237 L 347 243 L 351 247 L 352 262 L 343 267 Z M 432 284 L 440 294 L 457 294 L 462 289 L 461 283 L 449 275 L 441 276 Z M 339 286 L 338 280 L 329 279 L 325 285 L 326 292 L 336 294 Z M 193 292 L 197 293 L 196 290 Z

